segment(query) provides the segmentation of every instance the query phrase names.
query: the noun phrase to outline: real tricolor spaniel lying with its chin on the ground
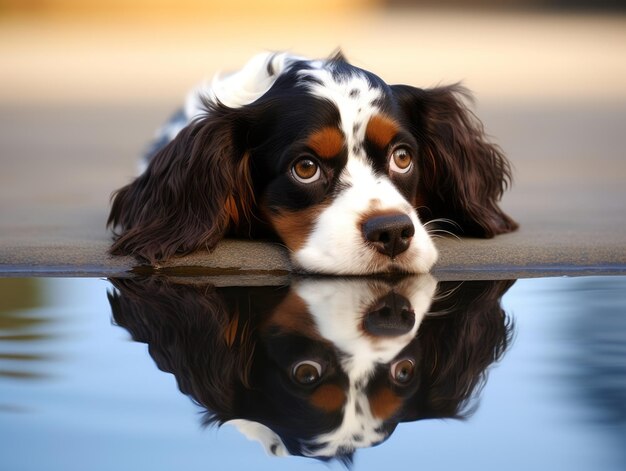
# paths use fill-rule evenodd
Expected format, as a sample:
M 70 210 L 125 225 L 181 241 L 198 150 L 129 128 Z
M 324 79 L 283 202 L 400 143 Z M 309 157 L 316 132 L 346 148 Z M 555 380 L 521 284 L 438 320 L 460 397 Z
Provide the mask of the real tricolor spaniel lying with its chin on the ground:
M 113 198 L 113 254 L 157 264 L 277 238 L 297 269 L 428 272 L 431 222 L 493 237 L 511 172 L 458 85 L 388 85 L 338 54 L 254 57 L 195 90 Z

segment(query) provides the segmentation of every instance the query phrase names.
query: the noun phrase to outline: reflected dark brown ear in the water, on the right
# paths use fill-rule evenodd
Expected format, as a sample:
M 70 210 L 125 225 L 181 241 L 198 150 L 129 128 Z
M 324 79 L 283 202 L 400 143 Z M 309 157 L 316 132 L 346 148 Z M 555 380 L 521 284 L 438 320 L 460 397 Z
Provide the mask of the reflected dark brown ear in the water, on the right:
M 511 345 L 514 325 L 501 305 L 514 281 L 444 282 L 420 325 L 421 383 L 403 420 L 463 418 L 477 406 L 492 363 Z M 445 294 L 445 293 L 448 294 Z

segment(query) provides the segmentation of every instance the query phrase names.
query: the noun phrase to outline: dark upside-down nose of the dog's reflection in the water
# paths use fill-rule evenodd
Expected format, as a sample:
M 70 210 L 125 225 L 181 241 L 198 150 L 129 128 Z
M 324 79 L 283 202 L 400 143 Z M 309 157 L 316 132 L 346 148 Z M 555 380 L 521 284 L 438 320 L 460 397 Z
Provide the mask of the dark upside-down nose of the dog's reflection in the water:
M 380 298 L 365 314 L 365 331 L 376 337 L 396 337 L 410 332 L 415 325 L 415 312 L 404 296 L 394 293 Z

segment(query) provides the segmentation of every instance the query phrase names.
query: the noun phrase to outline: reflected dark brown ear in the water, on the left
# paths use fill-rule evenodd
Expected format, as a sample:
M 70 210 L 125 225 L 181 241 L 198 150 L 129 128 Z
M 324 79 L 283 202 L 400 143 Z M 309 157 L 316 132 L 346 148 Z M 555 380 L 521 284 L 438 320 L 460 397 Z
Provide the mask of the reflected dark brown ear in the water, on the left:
M 113 322 L 146 343 L 158 368 L 172 373 L 180 391 L 216 420 L 238 417 L 235 398 L 255 345 L 242 327 L 248 319 L 238 319 L 208 284 L 161 277 L 110 281 L 116 288 L 108 293 Z

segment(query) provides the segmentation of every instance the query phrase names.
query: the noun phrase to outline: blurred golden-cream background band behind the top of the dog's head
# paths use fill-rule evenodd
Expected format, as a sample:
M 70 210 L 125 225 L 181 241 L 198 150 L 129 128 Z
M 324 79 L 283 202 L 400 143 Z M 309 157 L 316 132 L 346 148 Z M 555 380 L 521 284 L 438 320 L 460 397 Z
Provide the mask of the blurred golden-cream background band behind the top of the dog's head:
M 626 99 L 619 0 L 0 0 L 1 103 L 174 102 L 261 50 L 479 100 Z

